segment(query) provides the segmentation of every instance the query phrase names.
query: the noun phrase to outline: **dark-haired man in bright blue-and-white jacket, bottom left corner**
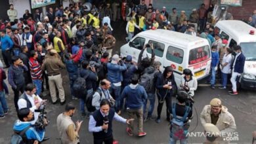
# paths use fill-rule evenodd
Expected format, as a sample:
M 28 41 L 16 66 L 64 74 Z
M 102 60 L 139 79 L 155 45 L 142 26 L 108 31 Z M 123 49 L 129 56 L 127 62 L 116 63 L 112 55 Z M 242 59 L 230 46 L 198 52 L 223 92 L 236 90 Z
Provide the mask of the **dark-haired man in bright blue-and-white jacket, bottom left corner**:
M 44 138 L 45 130 L 38 130 L 32 125 L 31 121 L 34 119 L 33 112 L 28 107 L 18 110 L 18 119 L 13 126 L 14 132 L 20 133 L 30 126 L 22 137 L 26 144 L 37 144 L 39 141 L 47 140 Z

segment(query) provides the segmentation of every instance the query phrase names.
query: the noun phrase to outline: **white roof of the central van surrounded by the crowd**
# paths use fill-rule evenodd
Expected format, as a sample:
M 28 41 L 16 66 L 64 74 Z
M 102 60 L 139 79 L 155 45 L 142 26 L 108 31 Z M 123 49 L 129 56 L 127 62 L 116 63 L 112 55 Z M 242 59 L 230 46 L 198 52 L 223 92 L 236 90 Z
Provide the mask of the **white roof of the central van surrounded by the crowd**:
M 189 43 L 194 43 L 200 41 L 207 41 L 201 37 L 195 37 L 192 35 L 187 35 L 184 33 L 179 33 L 176 31 L 169 31 L 165 29 L 156 29 L 156 30 L 148 30 L 142 31 L 138 34 L 143 37 L 151 37 L 157 39 L 159 41 L 164 41 L 166 43 L 176 43 L 177 45 L 188 46 Z

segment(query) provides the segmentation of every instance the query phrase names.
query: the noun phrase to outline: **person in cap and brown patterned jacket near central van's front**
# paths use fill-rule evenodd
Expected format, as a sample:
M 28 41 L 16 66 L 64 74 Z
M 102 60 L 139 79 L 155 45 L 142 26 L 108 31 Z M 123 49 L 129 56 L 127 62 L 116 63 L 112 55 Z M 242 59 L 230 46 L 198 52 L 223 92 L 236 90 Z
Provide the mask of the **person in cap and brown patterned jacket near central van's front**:
M 113 35 L 111 35 L 111 31 L 108 31 L 108 33 L 106 34 L 106 37 L 104 37 L 103 46 L 102 46 L 102 50 L 106 50 L 110 54 L 108 58 L 111 58 L 112 50 L 115 45 L 116 45 L 116 39 L 115 37 L 113 37 Z

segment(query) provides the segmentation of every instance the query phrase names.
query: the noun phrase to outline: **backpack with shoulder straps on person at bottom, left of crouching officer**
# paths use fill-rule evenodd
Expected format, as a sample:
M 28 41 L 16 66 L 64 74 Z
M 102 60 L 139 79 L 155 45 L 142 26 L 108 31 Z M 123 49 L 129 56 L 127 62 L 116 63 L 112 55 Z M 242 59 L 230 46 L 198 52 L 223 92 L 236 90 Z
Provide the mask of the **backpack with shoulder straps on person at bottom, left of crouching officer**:
M 184 139 L 188 134 L 188 127 L 189 125 L 184 124 L 186 117 L 190 113 L 191 108 L 186 106 L 185 114 L 182 118 L 177 118 L 176 115 L 176 103 L 173 103 L 172 107 L 173 119 L 171 120 L 171 137 L 173 139 Z

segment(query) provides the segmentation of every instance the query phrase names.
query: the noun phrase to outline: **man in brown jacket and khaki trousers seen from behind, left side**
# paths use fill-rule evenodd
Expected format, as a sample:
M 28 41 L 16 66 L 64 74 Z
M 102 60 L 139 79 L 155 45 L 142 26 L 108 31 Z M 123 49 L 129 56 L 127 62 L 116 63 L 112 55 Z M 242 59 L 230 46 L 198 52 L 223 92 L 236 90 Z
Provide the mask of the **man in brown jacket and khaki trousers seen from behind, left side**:
M 49 52 L 49 56 L 45 58 L 45 62 L 41 67 L 42 71 L 46 71 L 48 79 L 49 79 L 49 88 L 50 94 L 53 101 L 53 104 L 56 104 L 56 87 L 58 89 L 58 94 L 60 97 L 60 104 L 63 105 L 65 103 L 65 93 L 64 88 L 62 86 L 62 77 L 60 75 L 60 69 L 65 68 L 64 63 L 62 63 L 61 59 L 58 57 L 58 53 L 56 50 L 52 49 Z

